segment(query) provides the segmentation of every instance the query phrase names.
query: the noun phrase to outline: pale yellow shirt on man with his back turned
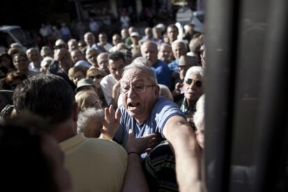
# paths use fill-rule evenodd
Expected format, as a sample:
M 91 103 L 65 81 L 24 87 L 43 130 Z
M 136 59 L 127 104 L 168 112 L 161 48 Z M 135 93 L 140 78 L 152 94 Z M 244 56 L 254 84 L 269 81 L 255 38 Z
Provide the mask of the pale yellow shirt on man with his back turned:
M 127 152 L 114 141 L 78 134 L 59 144 L 74 191 L 121 191 Z

